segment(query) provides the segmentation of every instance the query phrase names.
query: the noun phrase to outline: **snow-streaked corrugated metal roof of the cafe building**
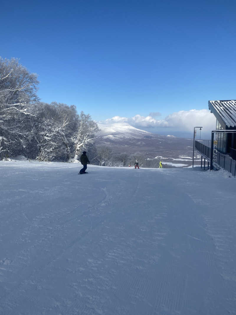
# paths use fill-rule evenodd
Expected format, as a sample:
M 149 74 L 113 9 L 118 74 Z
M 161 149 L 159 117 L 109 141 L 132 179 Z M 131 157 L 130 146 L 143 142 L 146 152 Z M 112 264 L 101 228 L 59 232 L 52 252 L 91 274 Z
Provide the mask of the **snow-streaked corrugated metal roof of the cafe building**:
M 236 100 L 209 100 L 208 106 L 220 123 L 228 128 L 236 127 Z

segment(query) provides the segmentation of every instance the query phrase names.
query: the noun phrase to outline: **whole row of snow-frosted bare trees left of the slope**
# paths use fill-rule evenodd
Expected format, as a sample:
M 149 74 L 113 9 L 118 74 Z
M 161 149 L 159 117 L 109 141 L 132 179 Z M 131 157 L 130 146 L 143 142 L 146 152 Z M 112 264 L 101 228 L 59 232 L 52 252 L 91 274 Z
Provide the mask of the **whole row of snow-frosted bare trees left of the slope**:
M 35 73 L 0 57 L 0 159 L 24 155 L 39 161 L 77 159 L 83 150 L 98 163 L 98 125 L 74 105 L 40 102 Z

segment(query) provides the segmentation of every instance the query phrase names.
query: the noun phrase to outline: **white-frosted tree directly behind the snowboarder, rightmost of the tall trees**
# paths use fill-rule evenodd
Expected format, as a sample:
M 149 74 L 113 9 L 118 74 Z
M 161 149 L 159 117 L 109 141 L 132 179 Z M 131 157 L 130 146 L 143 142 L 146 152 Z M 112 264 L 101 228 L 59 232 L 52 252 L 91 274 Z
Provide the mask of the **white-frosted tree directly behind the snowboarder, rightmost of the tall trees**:
M 90 115 L 81 112 L 78 115 L 77 133 L 73 137 L 75 143 L 75 157 L 77 160 L 82 151 L 86 151 L 88 146 L 94 143 L 95 135 L 99 131 L 98 125 L 91 120 Z

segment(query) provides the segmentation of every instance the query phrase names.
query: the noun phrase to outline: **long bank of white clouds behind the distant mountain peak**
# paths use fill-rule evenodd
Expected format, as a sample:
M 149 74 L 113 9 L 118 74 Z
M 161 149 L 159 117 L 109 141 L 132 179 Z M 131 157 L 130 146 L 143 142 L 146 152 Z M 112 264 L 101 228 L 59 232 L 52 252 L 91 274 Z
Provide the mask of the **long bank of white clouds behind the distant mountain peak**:
M 176 131 L 193 131 L 195 126 L 203 126 L 204 132 L 215 129 L 216 118 L 207 109 L 191 109 L 189 111 L 174 112 L 163 120 L 151 116 L 135 115 L 131 118 L 115 116 L 99 123 L 129 123 L 131 126 L 142 128 L 175 128 Z

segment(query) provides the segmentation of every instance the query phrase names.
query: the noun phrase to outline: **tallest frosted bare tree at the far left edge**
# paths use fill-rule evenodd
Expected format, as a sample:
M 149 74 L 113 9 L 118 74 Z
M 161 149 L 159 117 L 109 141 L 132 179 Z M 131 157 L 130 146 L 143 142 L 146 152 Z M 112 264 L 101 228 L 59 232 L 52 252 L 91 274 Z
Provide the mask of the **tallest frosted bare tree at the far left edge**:
M 17 59 L 0 57 L 0 136 L 1 156 L 20 153 L 24 141 L 25 116 L 38 100 L 37 75 L 29 73 Z M 3 141 L 4 140 L 4 141 Z

